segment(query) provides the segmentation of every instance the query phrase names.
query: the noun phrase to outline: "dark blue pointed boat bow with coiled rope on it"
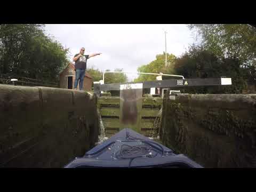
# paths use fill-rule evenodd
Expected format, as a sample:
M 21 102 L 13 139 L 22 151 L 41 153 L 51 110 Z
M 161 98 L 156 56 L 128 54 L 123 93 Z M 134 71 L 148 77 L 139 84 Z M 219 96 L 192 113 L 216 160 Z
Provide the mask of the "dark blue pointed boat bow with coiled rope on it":
M 77 157 L 65 168 L 72 167 L 195 167 L 202 166 L 183 154 L 155 142 L 131 129 L 123 129 L 95 146 L 83 157 Z

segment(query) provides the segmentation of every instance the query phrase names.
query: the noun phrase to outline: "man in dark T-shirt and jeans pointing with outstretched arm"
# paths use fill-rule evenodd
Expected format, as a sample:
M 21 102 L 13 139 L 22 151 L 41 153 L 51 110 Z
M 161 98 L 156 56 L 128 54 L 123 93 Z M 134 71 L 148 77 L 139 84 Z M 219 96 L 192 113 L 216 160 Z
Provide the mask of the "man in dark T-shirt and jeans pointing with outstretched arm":
M 73 58 L 73 61 L 75 61 L 75 68 L 76 68 L 75 69 L 76 79 L 75 79 L 75 85 L 74 85 L 75 90 L 77 89 L 78 80 L 79 80 L 79 90 L 83 89 L 87 59 L 101 54 L 101 53 L 93 53 L 90 55 L 85 55 L 84 51 L 85 51 L 85 49 L 84 49 L 84 47 L 82 47 L 80 50 L 80 53 L 75 54 L 75 56 Z

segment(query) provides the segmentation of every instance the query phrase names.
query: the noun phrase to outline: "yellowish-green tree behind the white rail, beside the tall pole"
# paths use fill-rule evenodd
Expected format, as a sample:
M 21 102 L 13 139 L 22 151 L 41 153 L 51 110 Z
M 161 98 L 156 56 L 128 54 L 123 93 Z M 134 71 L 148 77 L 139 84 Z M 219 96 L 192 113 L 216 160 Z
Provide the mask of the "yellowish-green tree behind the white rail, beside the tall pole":
M 165 66 L 165 53 L 156 55 L 156 59 L 151 61 L 148 65 L 142 65 L 137 70 L 141 73 L 165 73 L 173 74 L 175 55 L 167 53 L 167 67 Z M 140 74 L 137 79 L 134 79 L 135 82 L 143 81 L 155 81 L 155 75 L 144 75 Z

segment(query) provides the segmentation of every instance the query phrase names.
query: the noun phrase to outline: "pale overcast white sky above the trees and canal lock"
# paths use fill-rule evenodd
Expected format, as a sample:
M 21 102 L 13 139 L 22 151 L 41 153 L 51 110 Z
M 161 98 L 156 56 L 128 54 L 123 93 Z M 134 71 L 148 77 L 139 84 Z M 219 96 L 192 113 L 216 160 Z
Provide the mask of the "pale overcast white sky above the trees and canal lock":
M 101 52 L 90 58 L 87 68 L 137 72 L 137 68 L 155 60 L 156 54 L 165 51 L 164 30 L 167 30 L 167 53 L 177 57 L 195 42 L 194 33 L 186 25 L 68 25 L 47 24 L 46 35 L 51 35 L 70 50 L 70 60 L 81 47 L 86 53 Z M 127 75 L 129 79 L 137 75 Z

